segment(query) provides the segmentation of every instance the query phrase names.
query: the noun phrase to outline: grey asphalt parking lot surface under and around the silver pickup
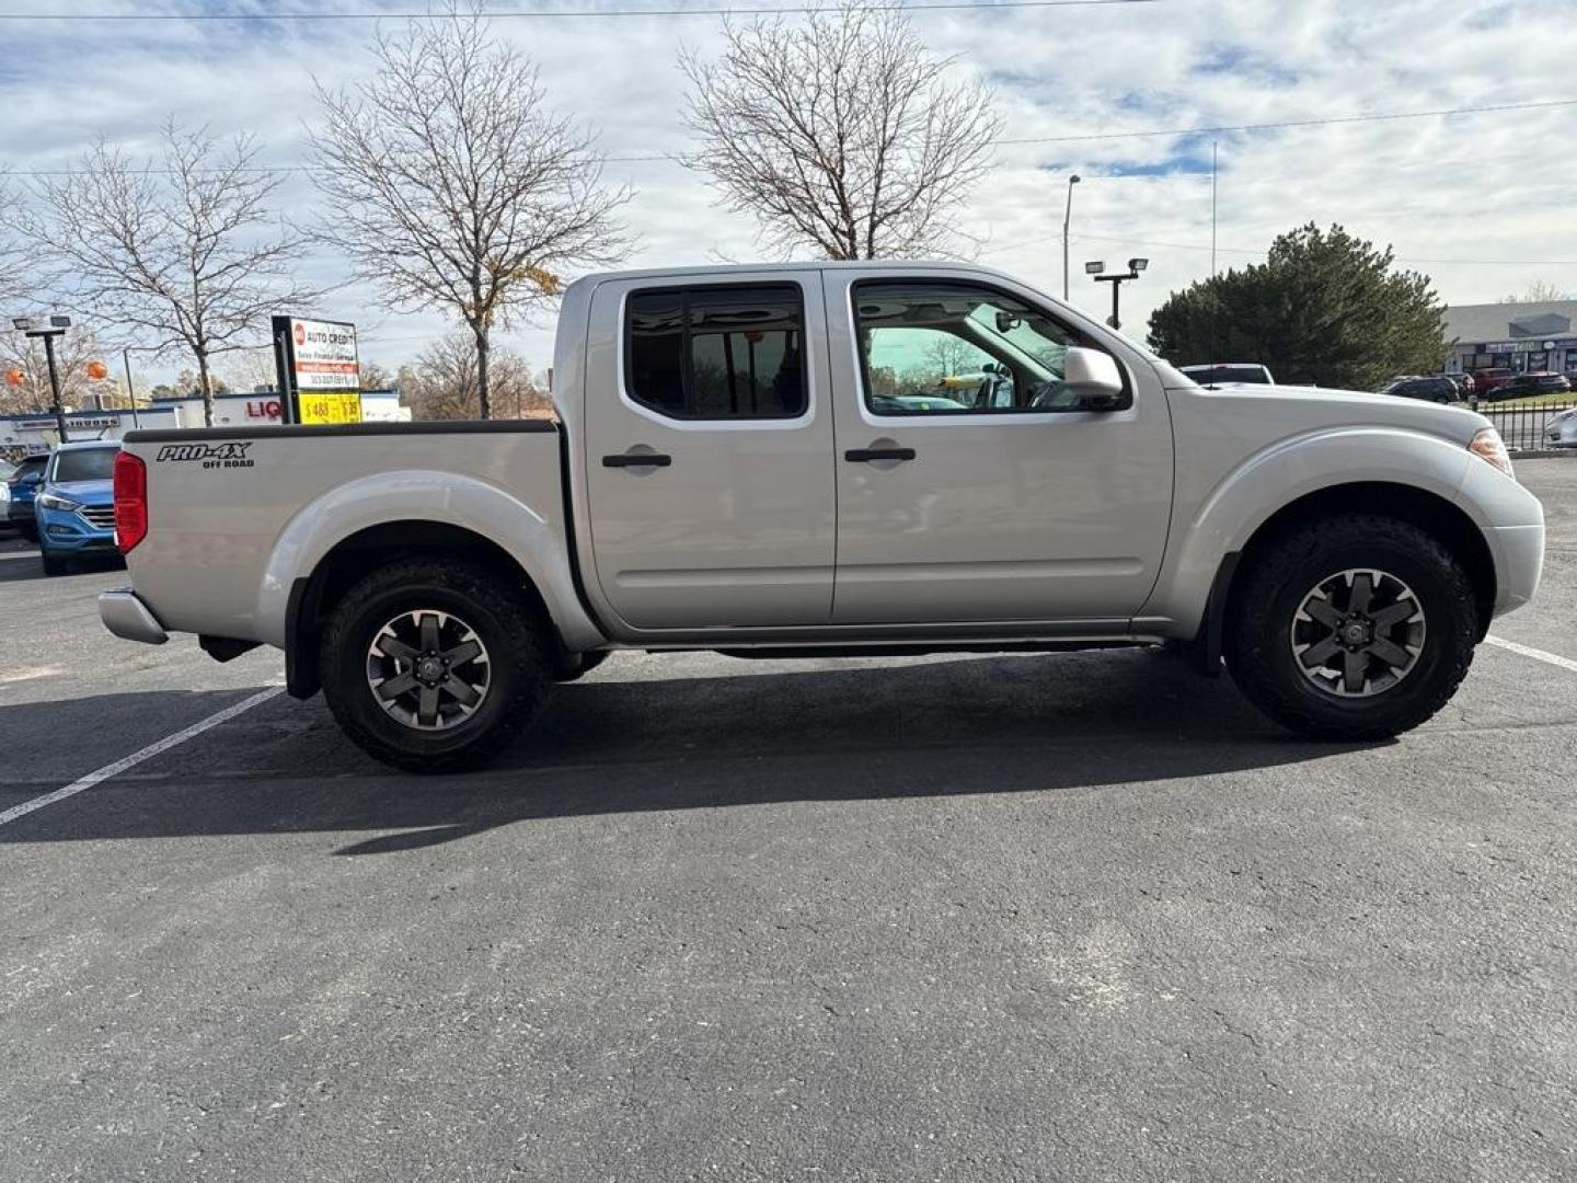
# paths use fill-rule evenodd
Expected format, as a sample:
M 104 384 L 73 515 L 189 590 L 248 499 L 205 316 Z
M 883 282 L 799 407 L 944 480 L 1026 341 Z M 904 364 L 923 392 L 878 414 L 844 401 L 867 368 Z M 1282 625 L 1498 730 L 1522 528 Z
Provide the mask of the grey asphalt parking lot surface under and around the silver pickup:
M 0 815 L 282 681 L 123 579 L 0 546 Z M 618 656 L 449 779 L 279 694 L 0 864 L 6 1180 L 1577 1177 L 1577 669 L 1500 645 L 1366 746 L 1161 651 Z

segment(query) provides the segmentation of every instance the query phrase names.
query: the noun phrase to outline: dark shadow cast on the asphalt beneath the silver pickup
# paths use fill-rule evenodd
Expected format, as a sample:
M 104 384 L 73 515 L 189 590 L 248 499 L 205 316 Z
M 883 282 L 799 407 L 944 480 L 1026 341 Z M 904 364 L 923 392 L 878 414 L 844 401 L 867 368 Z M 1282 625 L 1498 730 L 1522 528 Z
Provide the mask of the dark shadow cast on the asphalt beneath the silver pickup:
M 659 675 L 677 661 L 623 658 L 560 686 L 527 737 L 464 776 L 385 770 L 341 737 L 320 700 L 278 699 L 142 765 L 134 781 L 0 827 L 0 844 L 394 831 L 334 852 L 372 855 L 517 822 L 788 801 L 1112 789 L 1142 808 L 1148 784 L 1353 748 L 1298 741 L 1230 681 L 1158 651 L 741 661 L 729 674 Z M 58 705 L 0 708 L 0 733 Z

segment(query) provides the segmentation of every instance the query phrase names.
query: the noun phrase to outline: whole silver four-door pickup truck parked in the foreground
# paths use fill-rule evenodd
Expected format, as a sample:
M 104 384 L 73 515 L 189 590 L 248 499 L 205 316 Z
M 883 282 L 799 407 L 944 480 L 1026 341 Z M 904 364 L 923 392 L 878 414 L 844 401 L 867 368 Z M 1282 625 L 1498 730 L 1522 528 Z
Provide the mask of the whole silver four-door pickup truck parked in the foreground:
M 978 267 L 590 276 L 554 361 L 557 423 L 131 434 L 106 626 L 281 648 L 290 694 L 440 771 L 620 648 L 1178 642 L 1296 732 L 1392 735 L 1539 580 L 1479 415 L 1202 388 Z

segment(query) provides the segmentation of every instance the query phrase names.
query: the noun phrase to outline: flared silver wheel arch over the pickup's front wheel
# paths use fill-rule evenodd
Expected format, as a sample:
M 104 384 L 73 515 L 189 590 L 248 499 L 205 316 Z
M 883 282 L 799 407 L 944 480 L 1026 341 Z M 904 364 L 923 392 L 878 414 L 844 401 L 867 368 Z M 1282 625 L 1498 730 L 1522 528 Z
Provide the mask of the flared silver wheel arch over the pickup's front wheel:
M 1180 467 L 1186 462 L 1178 457 Z M 1459 498 L 1474 464 L 1515 486 L 1460 443 L 1400 427 L 1325 427 L 1277 440 L 1225 473 L 1189 517 L 1175 517 L 1175 544 L 1167 547 L 1161 577 L 1140 615 L 1164 621 L 1169 636 L 1192 637 L 1222 558 L 1241 550 L 1277 509 L 1322 489 L 1370 481 L 1408 484 L 1459 503 L 1479 528 L 1493 525 L 1482 505 Z M 1176 513 L 1186 514 L 1187 508 L 1178 506 Z

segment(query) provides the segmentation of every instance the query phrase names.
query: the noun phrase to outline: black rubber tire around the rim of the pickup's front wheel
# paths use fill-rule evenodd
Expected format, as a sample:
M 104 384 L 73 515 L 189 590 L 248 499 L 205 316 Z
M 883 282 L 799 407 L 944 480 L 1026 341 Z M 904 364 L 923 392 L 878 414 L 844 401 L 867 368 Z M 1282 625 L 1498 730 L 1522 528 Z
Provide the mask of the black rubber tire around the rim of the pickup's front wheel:
M 1427 634 L 1405 678 L 1374 697 L 1340 699 L 1303 675 L 1292 628 L 1309 588 L 1353 568 L 1400 577 L 1424 609 Z M 1473 582 L 1440 539 L 1385 514 L 1344 513 L 1290 530 L 1246 558 L 1224 648 L 1244 697 L 1284 727 L 1322 740 L 1381 740 L 1451 700 L 1478 637 Z

